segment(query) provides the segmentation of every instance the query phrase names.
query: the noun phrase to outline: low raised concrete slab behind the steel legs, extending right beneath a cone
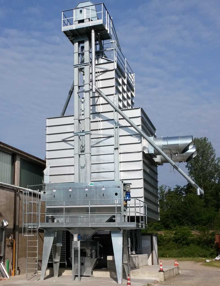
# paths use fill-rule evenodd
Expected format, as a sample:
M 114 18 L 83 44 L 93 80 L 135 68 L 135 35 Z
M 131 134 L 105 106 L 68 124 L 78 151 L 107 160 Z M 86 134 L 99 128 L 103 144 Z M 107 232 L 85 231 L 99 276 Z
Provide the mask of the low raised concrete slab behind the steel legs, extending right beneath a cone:
M 139 279 L 153 279 L 157 281 L 165 281 L 179 274 L 178 266 L 163 266 L 164 272 L 158 272 L 159 265 L 142 266 L 138 269 L 131 270 L 132 278 Z M 53 268 L 46 270 L 46 275 L 53 275 Z M 72 269 L 60 268 L 59 275 L 72 275 Z M 112 277 L 116 278 L 116 270 L 113 269 L 94 269 L 94 277 Z M 126 279 L 125 271 L 123 271 L 123 278 Z

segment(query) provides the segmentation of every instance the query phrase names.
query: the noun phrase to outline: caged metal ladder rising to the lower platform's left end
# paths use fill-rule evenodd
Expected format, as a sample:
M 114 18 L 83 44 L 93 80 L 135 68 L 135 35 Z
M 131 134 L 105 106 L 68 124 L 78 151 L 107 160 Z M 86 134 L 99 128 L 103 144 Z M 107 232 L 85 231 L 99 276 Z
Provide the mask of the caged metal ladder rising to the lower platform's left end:
M 38 280 L 39 191 L 23 191 L 22 235 L 27 237 L 26 279 Z

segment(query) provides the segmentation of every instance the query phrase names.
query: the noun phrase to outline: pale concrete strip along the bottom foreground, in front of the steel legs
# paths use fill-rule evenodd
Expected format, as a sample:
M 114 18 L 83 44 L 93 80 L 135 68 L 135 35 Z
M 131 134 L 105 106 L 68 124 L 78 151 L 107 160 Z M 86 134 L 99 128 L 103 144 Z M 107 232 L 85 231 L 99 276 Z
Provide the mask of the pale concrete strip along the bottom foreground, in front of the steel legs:
M 152 284 L 154 283 L 154 280 L 146 280 L 146 279 L 131 279 L 131 283 L 132 286 L 143 286 L 146 285 L 147 283 Z M 122 284 L 120 285 L 126 285 L 127 284 L 127 280 L 123 279 L 122 280 Z M 6 285 L 6 286 L 25 286 L 25 285 L 39 285 L 39 286 L 52 286 L 52 285 L 56 285 L 56 286 L 72 286 L 72 285 L 76 285 L 76 286 L 109 286 L 109 285 L 118 285 L 116 282 L 116 279 L 112 279 L 110 277 L 82 277 L 81 281 L 78 282 L 77 280 L 75 280 L 74 282 L 72 281 L 72 276 L 68 276 L 68 275 L 62 275 L 59 276 L 58 278 L 54 278 L 51 277 L 51 275 L 49 276 L 45 276 L 45 280 L 44 281 L 26 281 L 26 275 L 19 275 L 19 276 L 15 276 L 12 277 L 10 280 L 8 281 L 1 281 L 1 286 L 2 285 Z

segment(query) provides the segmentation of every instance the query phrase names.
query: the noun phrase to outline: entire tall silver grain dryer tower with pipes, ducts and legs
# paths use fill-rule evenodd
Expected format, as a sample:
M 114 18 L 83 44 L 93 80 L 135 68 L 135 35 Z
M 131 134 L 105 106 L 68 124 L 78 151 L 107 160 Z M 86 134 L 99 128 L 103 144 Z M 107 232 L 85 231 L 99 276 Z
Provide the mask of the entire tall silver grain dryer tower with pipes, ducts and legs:
M 123 268 L 130 273 L 130 231 L 159 220 L 157 165 L 169 162 L 203 193 L 176 165 L 196 149 L 192 136 L 156 137 L 144 110 L 134 108 L 134 73 L 104 3 L 62 11 L 62 32 L 74 46 L 74 81 L 61 116 L 46 123 L 41 280 L 51 249 L 58 276 L 63 231 L 71 233 L 69 258 L 79 281 L 102 259 L 94 234 L 110 233 L 121 284 Z M 72 94 L 74 115 L 65 116 Z

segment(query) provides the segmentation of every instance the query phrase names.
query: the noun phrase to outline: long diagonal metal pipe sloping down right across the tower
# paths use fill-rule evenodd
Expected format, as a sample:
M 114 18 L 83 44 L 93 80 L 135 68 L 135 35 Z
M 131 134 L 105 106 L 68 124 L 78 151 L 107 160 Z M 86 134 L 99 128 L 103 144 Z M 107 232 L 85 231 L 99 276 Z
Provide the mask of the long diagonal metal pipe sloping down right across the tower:
M 119 109 L 99 88 L 96 88 L 96 92 L 102 96 L 142 137 L 146 139 L 146 141 L 154 147 L 158 151 L 158 153 L 163 156 L 187 181 L 197 190 L 197 195 L 204 194 L 204 191 L 182 170 L 180 167 L 176 165 L 175 162 L 171 160 L 167 154 L 165 154 L 155 143 L 152 141 L 136 124 L 133 123 L 130 118 L 125 115 L 121 109 Z

